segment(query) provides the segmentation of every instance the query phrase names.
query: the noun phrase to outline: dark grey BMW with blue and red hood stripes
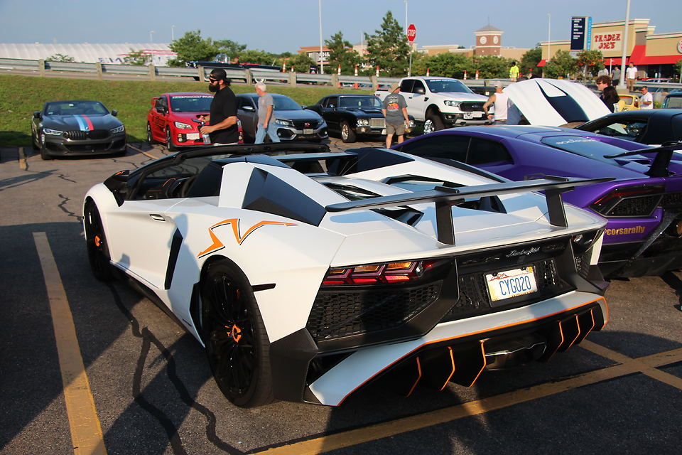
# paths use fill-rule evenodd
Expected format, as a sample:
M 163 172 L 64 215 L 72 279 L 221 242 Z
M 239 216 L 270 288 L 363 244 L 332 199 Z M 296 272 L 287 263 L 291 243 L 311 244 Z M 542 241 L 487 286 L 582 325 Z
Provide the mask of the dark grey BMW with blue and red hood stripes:
M 42 159 L 126 154 L 126 127 L 99 101 L 50 101 L 33 112 L 31 141 Z

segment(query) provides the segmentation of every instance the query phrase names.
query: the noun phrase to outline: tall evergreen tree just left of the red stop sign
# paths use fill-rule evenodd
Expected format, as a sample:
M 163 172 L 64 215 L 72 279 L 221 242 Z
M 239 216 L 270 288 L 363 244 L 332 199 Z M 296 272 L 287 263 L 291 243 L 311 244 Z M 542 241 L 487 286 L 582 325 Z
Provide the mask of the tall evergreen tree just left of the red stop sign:
M 391 11 L 386 12 L 381 30 L 374 35 L 364 34 L 367 39 L 367 63 L 372 68 L 379 66 L 379 74 L 404 76 L 409 65 L 410 47 L 407 35 Z

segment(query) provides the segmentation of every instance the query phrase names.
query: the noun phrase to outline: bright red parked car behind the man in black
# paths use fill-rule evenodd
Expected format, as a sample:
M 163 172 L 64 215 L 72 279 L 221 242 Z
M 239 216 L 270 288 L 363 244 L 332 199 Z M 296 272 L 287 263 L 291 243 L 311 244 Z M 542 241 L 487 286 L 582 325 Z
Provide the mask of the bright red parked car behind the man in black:
M 147 141 L 166 144 L 175 151 L 183 146 L 202 146 L 199 118 L 210 111 L 213 95 L 199 92 L 164 93 L 151 99 L 147 114 Z M 239 143 L 242 125 L 239 124 Z

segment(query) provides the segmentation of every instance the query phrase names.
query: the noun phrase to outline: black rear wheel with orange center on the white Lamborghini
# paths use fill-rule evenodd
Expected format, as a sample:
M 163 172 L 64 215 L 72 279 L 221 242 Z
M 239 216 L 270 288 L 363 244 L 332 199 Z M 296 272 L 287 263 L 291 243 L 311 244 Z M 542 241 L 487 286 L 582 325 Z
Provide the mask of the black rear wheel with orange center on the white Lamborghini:
M 273 400 L 270 343 L 251 285 L 227 261 L 212 264 L 202 284 L 201 331 L 220 391 L 234 405 Z

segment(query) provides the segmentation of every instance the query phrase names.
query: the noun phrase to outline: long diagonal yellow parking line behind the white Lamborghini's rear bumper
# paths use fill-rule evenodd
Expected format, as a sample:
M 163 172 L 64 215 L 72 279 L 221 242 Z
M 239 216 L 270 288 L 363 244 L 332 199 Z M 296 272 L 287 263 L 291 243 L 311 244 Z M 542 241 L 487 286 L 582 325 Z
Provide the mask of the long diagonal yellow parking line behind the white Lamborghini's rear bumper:
M 585 343 L 585 341 L 580 343 L 579 346 L 583 346 L 583 343 Z M 598 346 L 594 343 L 590 343 L 590 345 L 594 345 L 591 346 L 592 348 Z M 622 354 L 619 355 L 622 356 Z M 592 370 L 588 373 L 582 373 L 558 382 L 546 382 L 533 387 L 503 393 L 502 395 L 495 395 L 481 400 L 462 403 L 462 405 L 445 407 L 440 410 L 395 419 L 360 429 L 352 429 L 347 432 L 340 432 L 337 434 L 330 434 L 329 436 L 299 441 L 293 444 L 272 447 L 271 449 L 255 452 L 251 455 L 313 455 L 330 450 L 343 449 L 364 442 L 376 441 L 377 439 L 384 439 L 386 437 L 395 436 L 396 434 L 411 432 L 417 429 L 432 427 L 437 424 L 452 422 L 464 417 L 485 414 L 486 412 L 519 405 L 524 402 L 556 395 L 585 385 L 597 384 L 598 382 L 619 378 L 624 375 L 639 372 L 645 373 L 645 371 L 649 372 L 649 369 L 651 368 L 681 362 L 682 349 L 649 355 L 643 358 L 632 359 L 626 356 L 622 357 L 622 360 L 624 361 L 617 363 L 617 365 L 611 365 L 599 370 Z M 659 373 L 664 373 L 660 370 L 657 371 L 659 371 Z M 673 376 L 673 378 L 676 377 Z

